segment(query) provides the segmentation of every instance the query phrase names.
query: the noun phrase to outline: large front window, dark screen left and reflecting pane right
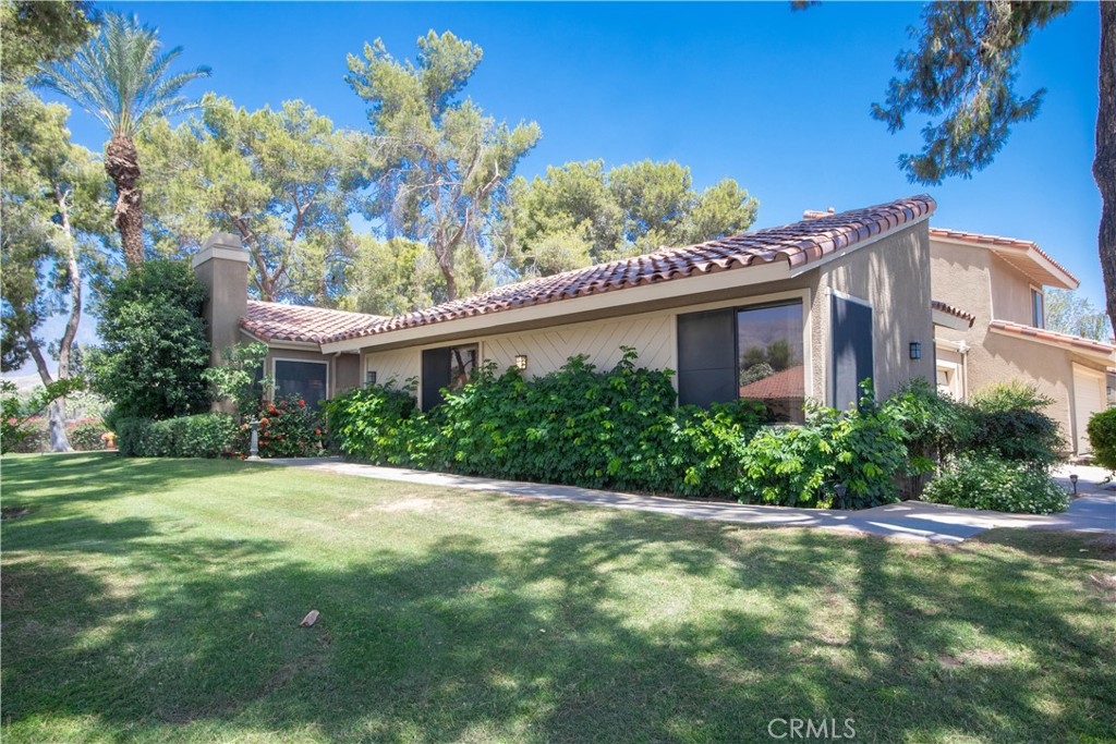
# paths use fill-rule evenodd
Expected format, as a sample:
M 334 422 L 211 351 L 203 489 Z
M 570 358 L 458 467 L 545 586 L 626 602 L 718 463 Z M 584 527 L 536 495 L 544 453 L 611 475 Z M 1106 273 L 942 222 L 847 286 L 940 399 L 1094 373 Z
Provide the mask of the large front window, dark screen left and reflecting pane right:
M 679 402 L 750 398 L 771 422 L 802 422 L 802 301 L 679 316 Z

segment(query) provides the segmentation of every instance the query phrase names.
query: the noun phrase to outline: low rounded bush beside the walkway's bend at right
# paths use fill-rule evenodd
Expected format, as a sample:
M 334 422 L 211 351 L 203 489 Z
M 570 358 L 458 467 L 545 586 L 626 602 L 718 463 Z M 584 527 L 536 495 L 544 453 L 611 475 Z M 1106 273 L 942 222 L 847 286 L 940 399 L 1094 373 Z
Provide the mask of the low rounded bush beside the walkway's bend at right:
M 1024 514 L 1062 512 L 1069 506 L 1069 496 L 1046 470 L 988 452 L 951 457 L 926 486 L 923 501 Z

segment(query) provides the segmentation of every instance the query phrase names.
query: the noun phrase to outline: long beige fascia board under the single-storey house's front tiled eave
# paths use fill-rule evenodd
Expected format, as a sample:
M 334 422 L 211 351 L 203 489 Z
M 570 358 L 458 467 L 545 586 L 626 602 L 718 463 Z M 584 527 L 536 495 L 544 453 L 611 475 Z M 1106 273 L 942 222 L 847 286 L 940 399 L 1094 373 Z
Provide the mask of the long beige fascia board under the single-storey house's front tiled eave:
M 785 261 L 778 261 L 761 265 L 747 267 L 743 269 L 719 271 L 716 273 L 701 277 L 686 277 L 685 279 L 674 279 L 671 281 L 657 282 L 655 284 L 645 284 L 642 287 L 613 290 L 610 292 L 600 292 L 599 294 L 589 294 L 588 297 L 576 297 L 567 300 L 545 302 L 542 305 L 532 305 L 525 308 L 516 308 L 513 310 L 500 310 L 497 312 L 469 316 L 465 318 L 455 318 L 453 320 L 443 320 L 441 322 L 417 326 L 414 328 L 401 328 L 398 330 L 373 334 L 371 336 L 360 336 L 343 341 L 326 342 L 321 345 L 321 350 L 326 354 L 331 354 L 334 351 L 348 351 L 350 349 L 371 349 L 389 344 L 406 344 L 407 341 L 422 342 L 423 338 L 430 338 L 433 336 L 460 336 L 470 332 L 473 335 L 483 332 L 491 336 L 501 332 L 514 332 L 501 331 L 499 330 L 501 326 L 531 322 L 536 320 L 550 320 L 551 322 L 549 325 L 559 326 L 565 325 L 566 322 L 564 322 L 561 320 L 564 316 L 580 312 L 593 312 L 595 310 L 607 310 L 624 307 L 625 305 L 637 305 L 641 302 L 654 302 L 666 299 L 684 298 L 690 294 L 715 292 L 725 289 L 742 289 L 744 287 L 754 287 L 756 284 L 766 284 L 768 282 L 790 278 L 791 274 L 788 263 Z M 749 302 L 752 301 L 751 298 L 747 299 Z M 739 302 L 740 300 L 737 300 L 737 303 Z M 641 311 L 636 309 L 629 313 L 617 313 L 617 317 L 623 315 L 638 315 L 639 312 Z

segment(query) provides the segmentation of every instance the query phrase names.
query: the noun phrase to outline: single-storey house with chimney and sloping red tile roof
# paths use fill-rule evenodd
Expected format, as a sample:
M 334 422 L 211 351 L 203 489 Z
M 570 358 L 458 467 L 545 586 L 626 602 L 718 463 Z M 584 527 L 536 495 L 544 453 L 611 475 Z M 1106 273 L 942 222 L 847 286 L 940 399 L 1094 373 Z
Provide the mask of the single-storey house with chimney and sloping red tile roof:
M 633 347 L 638 364 L 676 371 L 683 404 L 743 395 L 795 422 L 807 397 L 853 404 L 866 378 L 878 395 L 933 379 L 934 319 L 955 319 L 932 307 L 935 206 L 914 196 L 663 248 L 391 318 L 249 301 L 231 235 L 194 267 L 211 288 L 214 349 L 268 344 L 279 388 L 310 399 L 414 378 L 429 409 L 484 359 L 542 375 L 575 355 L 607 368 Z

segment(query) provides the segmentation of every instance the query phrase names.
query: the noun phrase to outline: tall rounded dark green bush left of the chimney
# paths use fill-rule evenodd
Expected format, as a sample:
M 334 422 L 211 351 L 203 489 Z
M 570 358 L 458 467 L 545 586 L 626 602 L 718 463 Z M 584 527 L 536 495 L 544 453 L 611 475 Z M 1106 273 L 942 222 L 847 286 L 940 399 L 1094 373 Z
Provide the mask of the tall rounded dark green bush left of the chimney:
M 183 261 L 147 261 L 105 293 L 90 351 L 94 388 L 121 418 L 172 418 L 209 408 L 205 287 Z

